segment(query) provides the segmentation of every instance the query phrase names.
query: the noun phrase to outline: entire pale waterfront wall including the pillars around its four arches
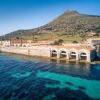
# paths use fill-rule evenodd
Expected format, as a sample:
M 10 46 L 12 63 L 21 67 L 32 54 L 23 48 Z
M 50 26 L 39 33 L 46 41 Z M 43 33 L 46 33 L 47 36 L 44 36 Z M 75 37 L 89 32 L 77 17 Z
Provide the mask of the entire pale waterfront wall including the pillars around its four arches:
M 61 58 L 60 54 L 61 51 L 66 52 L 66 60 L 70 60 L 71 52 L 75 52 L 75 60 L 80 61 L 80 54 L 86 53 L 86 61 L 91 62 L 96 56 L 95 50 L 87 51 L 85 49 L 76 50 L 76 49 L 66 49 L 62 47 L 57 46 L 31 46 L 31 47 L 1 47 L 2 52 L 8 52 L 8 53 L 16 53 L 16 54 L 23 54 L 23 55 L 29 55 L 29 56 L 39 56 L 39 57 L 52 57 L 52 51 L 55 50 L 57 52 L 57 58 Z

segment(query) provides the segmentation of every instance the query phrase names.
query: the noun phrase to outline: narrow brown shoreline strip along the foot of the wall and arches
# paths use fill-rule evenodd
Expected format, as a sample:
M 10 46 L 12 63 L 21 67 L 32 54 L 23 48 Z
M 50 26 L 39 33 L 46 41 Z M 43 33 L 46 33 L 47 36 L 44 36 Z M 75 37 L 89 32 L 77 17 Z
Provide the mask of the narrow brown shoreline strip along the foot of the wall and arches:
M 18 54 L 18 53 L 12 53 L 12 52 L 1 52 L 2 54 L 7 54 L 7 55 L 14 55 L 14 56 L 20 56 L 22 59 L 38 59 L 40 61 L 47 61 L 47 62 L 54 62 L 58 64 L 70 64 L 70 63 L 75 63 L 75 64 L 100 64 L 100 61 L 93 61 L 93 62 L 86 62 L 86 61 L 76 61 L 76 60 L 65 60 L 65 59 L 56 59 L 56 58 L 50 58 L 50 57 L 43 57 L 43 56 L 33 56 L 33 55 L 25 55 L 25 54 Z

